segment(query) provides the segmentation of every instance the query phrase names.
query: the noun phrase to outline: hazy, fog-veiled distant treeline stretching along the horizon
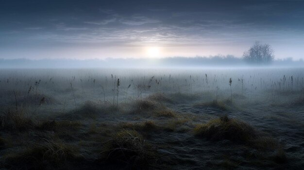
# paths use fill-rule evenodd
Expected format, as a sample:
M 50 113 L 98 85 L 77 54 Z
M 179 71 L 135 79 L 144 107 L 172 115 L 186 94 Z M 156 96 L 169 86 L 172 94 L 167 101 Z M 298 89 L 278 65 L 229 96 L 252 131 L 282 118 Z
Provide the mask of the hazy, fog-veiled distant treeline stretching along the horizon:
M 241 58 L 231 55 L 210 57 L 169 57 L 160 59 L 0 59 L 0 68 L 154 68 L 154 67 L 244 67 L 248 66 Z M 255 65 L 256 66 L 256 65 Z M 303 67 L 304 61 L 292 58 L 275 60 L 270 67 Z

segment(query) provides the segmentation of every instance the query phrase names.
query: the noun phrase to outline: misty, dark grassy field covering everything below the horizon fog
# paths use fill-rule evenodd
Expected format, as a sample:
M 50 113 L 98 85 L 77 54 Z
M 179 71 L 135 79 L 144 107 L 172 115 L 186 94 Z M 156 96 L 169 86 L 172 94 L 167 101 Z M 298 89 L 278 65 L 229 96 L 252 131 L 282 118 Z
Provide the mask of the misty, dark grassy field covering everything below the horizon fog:
M 304 167 L 304 69 L 2 69 L 0 169 Z

